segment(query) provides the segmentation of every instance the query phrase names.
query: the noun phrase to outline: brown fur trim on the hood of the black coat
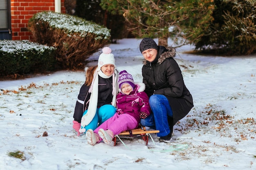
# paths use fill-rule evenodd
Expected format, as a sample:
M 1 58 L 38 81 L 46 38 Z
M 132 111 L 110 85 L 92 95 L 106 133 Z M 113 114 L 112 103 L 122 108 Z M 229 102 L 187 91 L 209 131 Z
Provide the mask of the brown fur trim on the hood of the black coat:
M 159 56 L 160 55 L 160 56 Z M 161 64 L 162 62 L 164 62 L 164 60 L 166 58 L 170 58 L 170 57 L 175 57 L 176 55 L 176 50 L 173 47 L 167 47 L 165 48 L 164 46 L 158 46 L 158 50 L 157 50 L 157 63 Z M 143 60 L 143 65 L 147 64 L 147 60 L 144 59 Z

